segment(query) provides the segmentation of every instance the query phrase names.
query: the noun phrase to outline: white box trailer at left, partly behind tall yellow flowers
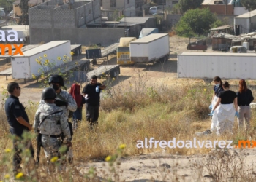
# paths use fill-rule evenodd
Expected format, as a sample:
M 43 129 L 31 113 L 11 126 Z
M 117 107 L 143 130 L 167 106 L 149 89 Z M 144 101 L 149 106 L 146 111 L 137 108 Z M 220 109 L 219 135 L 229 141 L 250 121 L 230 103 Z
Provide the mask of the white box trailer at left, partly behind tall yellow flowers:
M 70 41 L 50 41 L 47 44 L 42 44 L 31 50 L 23 52 L 23 55 L 13 55 L 12 60 L 12 78 L 13 79 L 31 79 L 32 74 L 39 76 L 38 73 L 40 66 L 36 59 L 46 54 L 51 63 L 56 63 L 60 66 L 64 62 L 57 60 L 58 57 L 63 58 L 64 55 L 70 57 L 71 45 Z M 48 69 L 48 67 L 45 67 Z

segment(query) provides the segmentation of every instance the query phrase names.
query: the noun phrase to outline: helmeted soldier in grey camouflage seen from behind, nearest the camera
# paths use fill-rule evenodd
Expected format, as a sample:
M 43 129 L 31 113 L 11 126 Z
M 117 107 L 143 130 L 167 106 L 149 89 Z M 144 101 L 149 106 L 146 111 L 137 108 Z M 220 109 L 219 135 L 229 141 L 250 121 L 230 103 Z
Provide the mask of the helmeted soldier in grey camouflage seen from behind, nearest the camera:
M 54 104 L 55 98 L 56 92 L 53 88 L 48 87 L 42 90 L 42 100 L 45 103 L 39 106 L 34 118 L 34 131 L 39 130 L 42 135 L 42 146 L 48 164 L 53 157 L 60 157 L 59 148 L 63 143 L 61 134 L 64 135 L 64 143 L 67 143 L 68 147 L 72 146 L 66 115 L 62 108 Z

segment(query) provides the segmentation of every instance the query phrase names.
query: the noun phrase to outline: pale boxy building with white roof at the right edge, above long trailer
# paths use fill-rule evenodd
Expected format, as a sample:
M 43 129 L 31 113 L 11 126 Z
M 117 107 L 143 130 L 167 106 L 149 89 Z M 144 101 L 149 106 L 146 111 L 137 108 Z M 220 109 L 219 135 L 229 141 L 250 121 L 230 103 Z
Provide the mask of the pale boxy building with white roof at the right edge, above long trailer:
M 256 10 L 235 17 L 234 30 L 236 35 L 256 31 Z

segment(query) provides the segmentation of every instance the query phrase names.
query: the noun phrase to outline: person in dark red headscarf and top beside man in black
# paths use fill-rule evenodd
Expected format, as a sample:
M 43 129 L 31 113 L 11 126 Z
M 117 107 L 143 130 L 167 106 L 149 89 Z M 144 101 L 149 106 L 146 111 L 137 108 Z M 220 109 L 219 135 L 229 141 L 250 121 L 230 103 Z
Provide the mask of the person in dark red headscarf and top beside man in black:
M 77 110 L 73 113 L 73 127 L 76 129 L 78 127 L 78 121 L 82 120 L 82 108 L 86 100 L 83 98 L 83 95 L 81 95 L 79 84 L 72 84 L 69 94 L 72 95 L 78 106 Z

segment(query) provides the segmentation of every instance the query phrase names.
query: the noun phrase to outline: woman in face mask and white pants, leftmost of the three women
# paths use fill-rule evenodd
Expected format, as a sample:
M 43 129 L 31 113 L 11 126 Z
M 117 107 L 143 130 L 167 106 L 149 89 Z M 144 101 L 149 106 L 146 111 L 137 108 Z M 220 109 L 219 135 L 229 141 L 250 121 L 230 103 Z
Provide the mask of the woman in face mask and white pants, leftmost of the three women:
M 214 77 L 214 94 L 212 96 L 211 99 L 211 105 L 209 106 L 210 110 L 212 110 L 212 108 L 214 108 L 214 106 L 217 103 L 217 95 L 219 94 L 219 92 L 223 91 L 222 88 L 222 79 L 219 78 L 219 76 L 215 76 Z M 218 107 L 219 108 L 219 107 Z M 215 132 L 216 131 L 216 124 L 217 124 L 217 110 L 218 108 L 216 108 L 214 110 L 214 114 L 212 115 L 212 119 L 211 119 L 211 132 Z

